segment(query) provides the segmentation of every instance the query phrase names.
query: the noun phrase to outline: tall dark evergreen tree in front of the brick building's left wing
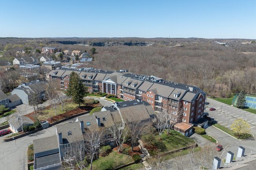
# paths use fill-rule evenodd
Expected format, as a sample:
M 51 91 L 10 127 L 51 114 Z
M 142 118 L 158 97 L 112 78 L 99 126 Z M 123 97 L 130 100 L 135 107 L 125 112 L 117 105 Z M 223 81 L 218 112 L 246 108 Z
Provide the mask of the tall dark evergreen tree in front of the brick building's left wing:
M 75 103 L 79 104 L 83 102 L 83 97 L 85 95 L 85 86 L 82 83 L 82 79 L 78 77 L 78 74 L 72 71 L 70 74 L 69 88 L 67 90 L 67 95 L 72 96 Z

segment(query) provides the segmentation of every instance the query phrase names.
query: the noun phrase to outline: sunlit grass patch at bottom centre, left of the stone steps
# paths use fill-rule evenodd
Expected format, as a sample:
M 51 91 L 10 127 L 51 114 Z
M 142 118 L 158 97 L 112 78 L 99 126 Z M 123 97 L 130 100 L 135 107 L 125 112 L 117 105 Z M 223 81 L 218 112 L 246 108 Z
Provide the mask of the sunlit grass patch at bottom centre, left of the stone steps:
M 131 163 L 132 157 L 126 154 L 117 154 L 117 151 L 113 150 L 106 157 L 99 157 L 96 161 L 93 161 L 93 170 L 110 170 L 118 166 Z M 87 168 L 89 168 L 88 166 Z

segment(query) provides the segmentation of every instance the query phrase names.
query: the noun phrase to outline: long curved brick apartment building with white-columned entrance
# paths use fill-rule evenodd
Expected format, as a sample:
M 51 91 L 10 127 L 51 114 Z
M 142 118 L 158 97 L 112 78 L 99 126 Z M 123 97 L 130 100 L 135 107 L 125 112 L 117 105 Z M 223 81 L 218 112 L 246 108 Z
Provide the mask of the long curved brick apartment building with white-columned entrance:
M 174 130 L 185 136 L 192 133 L 194 125 L 208 127 L 208 120 L 203 119 L 206 93 L 196 86 L 136 75 L 127 70 L 56 69 L 49 73 L 49 77 L 67 89 L 72 71 L 79 75 L 90 92 L 109 93 L 126 101 L 140 99 L 148 102 L 156 113 L 173 114 L 177 119 Z

